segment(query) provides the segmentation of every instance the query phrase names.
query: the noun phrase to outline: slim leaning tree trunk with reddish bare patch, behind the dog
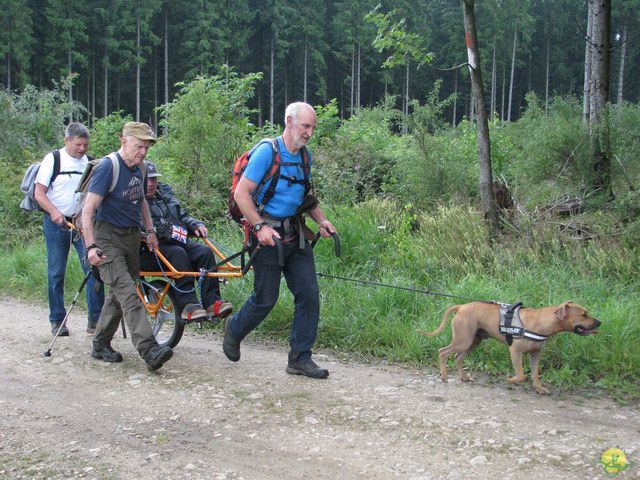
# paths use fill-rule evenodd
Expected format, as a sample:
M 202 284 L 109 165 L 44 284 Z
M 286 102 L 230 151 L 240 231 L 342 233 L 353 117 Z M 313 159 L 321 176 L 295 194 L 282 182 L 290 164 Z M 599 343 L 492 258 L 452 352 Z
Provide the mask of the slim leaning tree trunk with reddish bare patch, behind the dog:
M 464 32 L 467 44 L 467 57 L 469 72 L 471 73 L 471 86 L 475 95 L 476 111 L 478 116 L 478 160 L 480 163 L 480 202 L 482 213 L 487 224 L 489 239 L 498 233 L 498 213 L 496 200 L 493 193 L 493 178 L 491 174 L 491 141 L 489 139 L 489 124 L 487 122 L 486 107 L 484 103 L 484 86 L 482 84 L 482 71 L 480 69 L 480 52 L 476 34 L 476 21 L 474 13 L 474 0 L 464 0 Z

